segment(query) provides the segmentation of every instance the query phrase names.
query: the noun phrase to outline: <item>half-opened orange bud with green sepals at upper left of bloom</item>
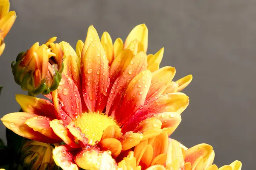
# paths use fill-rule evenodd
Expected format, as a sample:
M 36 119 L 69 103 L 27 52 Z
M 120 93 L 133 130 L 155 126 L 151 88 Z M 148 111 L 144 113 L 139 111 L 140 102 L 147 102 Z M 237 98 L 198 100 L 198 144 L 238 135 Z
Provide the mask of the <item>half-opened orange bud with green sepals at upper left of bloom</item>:
M 18 54 L 12 62 L 12 73 L 15 82 L 22 90 L 35 96 L 40 93 L 49 94 L 58 88 L 63 71 L 63 51 L 52 37 L 39 46 L 36 42 L 26 51 Z

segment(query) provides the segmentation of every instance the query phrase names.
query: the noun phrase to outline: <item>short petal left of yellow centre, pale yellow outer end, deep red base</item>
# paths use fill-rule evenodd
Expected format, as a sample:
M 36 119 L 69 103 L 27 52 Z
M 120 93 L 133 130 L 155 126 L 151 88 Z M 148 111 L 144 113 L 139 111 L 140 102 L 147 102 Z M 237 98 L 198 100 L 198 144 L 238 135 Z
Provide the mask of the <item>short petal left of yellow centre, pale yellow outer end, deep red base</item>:
M 50 127 L 52 127 L 52 130 L 54 133 L 60 137 L 66 144 L 68 144 L 71 147 L 79 147 L 78 144 L 74 142 L 73 135 L 70 133 L 70 131 L 63 125 L 63 122 L 58 119 L 54 119 L 50 122 Z

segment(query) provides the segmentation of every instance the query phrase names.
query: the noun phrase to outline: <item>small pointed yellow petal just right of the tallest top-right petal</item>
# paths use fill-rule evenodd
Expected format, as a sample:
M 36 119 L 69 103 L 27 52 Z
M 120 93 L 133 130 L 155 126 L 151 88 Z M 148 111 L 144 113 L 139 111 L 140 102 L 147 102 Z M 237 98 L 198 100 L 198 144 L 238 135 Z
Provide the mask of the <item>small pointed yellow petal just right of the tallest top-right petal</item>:
M 161 48 L 159 51 L 157 51 L 156 54 L 154 54 L 154 55 L 149 54 L 147 56 L 148 57 L 148 70 L 153 72 L 153 71 L 156 71 L 157 69 L 159 69 L 160 62 L 163 59 L 163 51 L 164 51 L 164 48 Z

